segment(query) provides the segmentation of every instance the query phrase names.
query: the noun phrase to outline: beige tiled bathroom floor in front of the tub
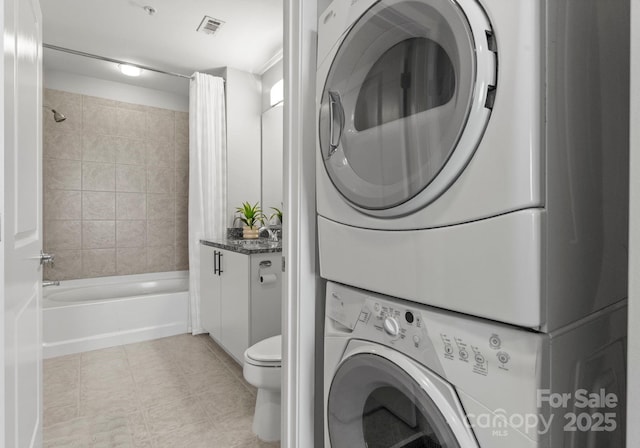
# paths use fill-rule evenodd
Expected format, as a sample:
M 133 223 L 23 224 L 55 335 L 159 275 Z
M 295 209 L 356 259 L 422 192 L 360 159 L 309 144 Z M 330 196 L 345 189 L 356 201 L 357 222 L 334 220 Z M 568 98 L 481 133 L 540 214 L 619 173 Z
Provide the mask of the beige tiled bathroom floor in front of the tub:
M 255 389 L 207 335 L 44 362 L 44 447 L 278 447 L 251 432 Z

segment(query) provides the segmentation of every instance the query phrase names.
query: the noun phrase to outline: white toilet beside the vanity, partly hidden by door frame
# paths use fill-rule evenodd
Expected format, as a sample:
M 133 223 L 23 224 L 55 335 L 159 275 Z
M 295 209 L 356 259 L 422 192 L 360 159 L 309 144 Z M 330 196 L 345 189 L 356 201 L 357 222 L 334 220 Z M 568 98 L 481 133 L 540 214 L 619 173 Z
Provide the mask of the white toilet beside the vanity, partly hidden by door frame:
M 258 389 L 253 432 L 262 440 L 280 440 L 282 335 L 264 339 L 244 352 L 244 378 Z

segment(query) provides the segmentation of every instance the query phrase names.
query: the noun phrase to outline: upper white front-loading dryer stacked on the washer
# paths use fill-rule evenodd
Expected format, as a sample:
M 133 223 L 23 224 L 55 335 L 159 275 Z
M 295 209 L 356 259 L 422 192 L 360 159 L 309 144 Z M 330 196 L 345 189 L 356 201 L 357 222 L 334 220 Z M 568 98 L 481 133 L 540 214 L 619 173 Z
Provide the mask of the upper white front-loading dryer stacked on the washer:
M 336 0 L 321 276 L 551 331 L 626 297 L 628 2 Z

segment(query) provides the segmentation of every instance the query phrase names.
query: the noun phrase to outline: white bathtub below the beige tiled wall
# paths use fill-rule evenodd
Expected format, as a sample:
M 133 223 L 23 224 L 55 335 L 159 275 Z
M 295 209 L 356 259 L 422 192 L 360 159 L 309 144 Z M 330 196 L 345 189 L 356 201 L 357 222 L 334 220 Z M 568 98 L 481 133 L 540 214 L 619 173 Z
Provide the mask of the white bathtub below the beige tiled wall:
M 188 271 L 60 282 L 43 289 L 43 356 L 186 333 Z

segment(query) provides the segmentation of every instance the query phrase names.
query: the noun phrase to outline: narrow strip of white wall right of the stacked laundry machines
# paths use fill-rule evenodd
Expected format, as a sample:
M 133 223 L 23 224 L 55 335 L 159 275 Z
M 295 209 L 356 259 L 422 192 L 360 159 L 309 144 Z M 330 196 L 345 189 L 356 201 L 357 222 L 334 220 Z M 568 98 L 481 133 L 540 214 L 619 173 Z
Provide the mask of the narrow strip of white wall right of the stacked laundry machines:
M 627 446 L 640 446 L 640 0 L 631 0 Z

